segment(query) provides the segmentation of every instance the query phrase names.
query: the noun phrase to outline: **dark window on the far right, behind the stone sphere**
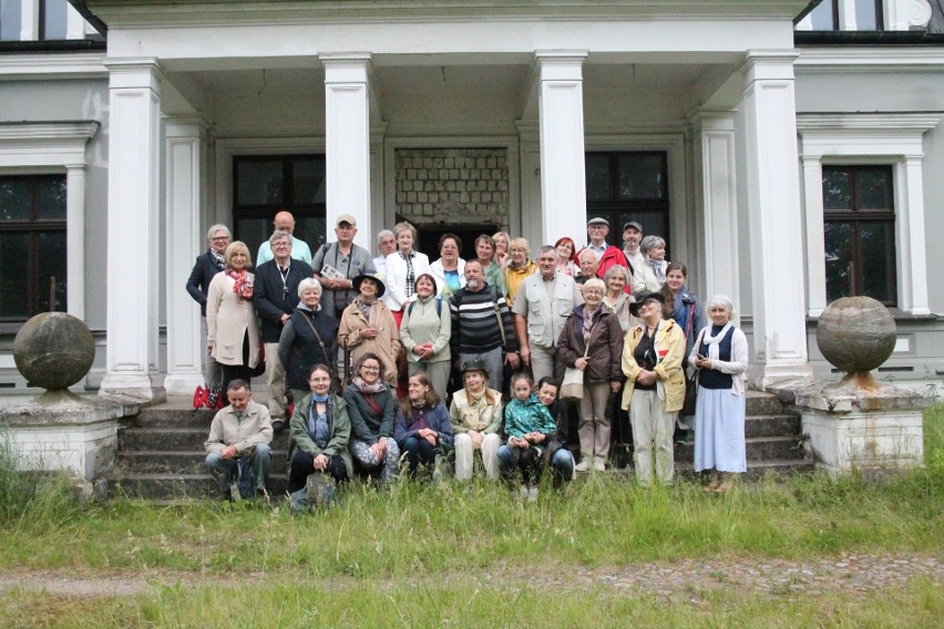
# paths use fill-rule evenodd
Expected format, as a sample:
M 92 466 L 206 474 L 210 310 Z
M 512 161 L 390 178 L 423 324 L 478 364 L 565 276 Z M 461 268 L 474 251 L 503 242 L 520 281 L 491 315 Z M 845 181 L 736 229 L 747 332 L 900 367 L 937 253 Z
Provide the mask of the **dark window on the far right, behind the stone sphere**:
M 827 301 L 896 302 L 891 166 L 823 166 Z

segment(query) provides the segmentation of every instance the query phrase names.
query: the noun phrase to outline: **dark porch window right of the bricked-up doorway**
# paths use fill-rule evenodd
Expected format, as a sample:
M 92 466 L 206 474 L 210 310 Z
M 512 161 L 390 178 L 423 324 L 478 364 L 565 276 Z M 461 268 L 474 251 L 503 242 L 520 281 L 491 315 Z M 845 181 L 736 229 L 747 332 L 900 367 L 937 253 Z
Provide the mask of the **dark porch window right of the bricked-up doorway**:
M 623 247 L 623 225 L 635 220 L 644 234 L 669 243 L 668 159 L 665 152 L 586 154 L 587 220 L 609 221 L 610 245 Z M 577 243 L 579 245 L 579 243 Z

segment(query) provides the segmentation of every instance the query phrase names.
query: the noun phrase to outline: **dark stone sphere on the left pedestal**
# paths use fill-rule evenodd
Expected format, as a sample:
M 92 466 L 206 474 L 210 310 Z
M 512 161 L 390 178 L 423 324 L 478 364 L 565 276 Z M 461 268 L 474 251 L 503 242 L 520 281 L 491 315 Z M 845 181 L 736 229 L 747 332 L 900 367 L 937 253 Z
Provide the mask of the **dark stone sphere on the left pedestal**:
M 95 341 L 82 320 L 65 312 L 43 312 L 20 328 L 13 360 L 31 384 L 68 389 L 92 369 Z

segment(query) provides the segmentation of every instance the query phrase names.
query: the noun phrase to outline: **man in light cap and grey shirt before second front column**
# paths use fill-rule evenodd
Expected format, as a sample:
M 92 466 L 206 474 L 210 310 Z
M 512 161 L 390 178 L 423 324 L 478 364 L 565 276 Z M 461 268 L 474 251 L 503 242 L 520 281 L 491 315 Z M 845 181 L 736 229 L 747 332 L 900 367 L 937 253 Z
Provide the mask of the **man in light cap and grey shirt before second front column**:
M 356 234 L 357 219 L 341 214 L 335 220 L 338 241 L 325 243 L 311 260 L 315 277 L 321 283 L 321 308 L 339 321 L 341 312 L 358 295 L 353 279 L 377 274 L 370 251 L 353 244 Z

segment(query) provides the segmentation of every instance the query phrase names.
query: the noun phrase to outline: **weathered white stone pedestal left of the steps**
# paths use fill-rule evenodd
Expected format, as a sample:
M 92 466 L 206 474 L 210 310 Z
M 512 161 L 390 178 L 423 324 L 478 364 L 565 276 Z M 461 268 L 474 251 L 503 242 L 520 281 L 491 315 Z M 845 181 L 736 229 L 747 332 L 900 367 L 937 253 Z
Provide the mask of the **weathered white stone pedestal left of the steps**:
M 114 465 L 119 421 L 137 411 L 136 403 L 53 391 L 0 408 L 0 426 L 19 470 L 69 472 L 91 495 Z

